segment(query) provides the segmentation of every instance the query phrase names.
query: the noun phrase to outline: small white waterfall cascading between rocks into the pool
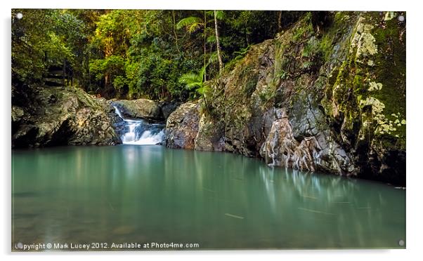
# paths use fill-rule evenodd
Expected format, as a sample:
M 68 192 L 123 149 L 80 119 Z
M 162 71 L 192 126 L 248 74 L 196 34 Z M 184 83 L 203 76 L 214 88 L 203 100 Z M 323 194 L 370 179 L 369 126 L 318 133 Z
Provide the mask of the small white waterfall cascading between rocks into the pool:
M 125 119 L 119 108 L 116 105 L 112 106 L 117 116 L 122 119 L 115 126 L 123 144 L 157 145 L 163 141 L 164 124 L 148 123 L 143 119 Z

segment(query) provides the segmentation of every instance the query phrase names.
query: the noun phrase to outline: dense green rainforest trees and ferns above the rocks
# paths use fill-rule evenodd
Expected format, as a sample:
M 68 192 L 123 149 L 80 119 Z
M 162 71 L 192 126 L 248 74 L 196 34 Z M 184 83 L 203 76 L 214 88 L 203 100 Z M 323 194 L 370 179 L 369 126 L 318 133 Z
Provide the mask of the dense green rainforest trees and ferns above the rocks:
M 49 68 L 65 62 L 74 85 L 107 98 L 187 100 L 198 91 L 186 88 L 181 76 L 204 70 L 202 82 L 216 77 L 249 46 L 273 38 L 299 15 L 15 9 L 13 84 L 42 84 Z

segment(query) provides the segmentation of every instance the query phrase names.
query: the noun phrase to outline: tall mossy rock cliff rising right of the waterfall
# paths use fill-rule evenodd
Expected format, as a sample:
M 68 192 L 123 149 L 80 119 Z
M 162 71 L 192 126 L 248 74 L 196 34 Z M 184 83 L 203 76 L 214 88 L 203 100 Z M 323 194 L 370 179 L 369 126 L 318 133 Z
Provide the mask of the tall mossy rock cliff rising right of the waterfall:
M 405 185 L 405 23 L 391 13 L 329 16 L 322 27 L 305 15 L 252 46 L 209 82 L 208 109 L 177 109 L 168 127 L 188 148 Z

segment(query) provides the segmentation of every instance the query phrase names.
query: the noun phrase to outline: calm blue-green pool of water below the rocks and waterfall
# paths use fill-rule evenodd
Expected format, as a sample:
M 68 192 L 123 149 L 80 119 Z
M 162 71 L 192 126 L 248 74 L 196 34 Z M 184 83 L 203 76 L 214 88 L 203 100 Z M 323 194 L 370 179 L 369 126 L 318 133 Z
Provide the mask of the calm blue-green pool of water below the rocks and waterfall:
M 403 248 L 405 190 L 162 146 L 13 150 L 12 244 Z

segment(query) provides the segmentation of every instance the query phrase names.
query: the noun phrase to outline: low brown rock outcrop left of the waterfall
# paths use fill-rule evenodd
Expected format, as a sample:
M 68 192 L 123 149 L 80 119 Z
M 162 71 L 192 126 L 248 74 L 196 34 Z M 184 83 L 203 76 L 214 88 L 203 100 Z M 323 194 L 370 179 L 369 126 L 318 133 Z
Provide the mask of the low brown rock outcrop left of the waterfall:
M 79 88 L 13 88 L 12 147 L 116 145 L 109 102 Z

